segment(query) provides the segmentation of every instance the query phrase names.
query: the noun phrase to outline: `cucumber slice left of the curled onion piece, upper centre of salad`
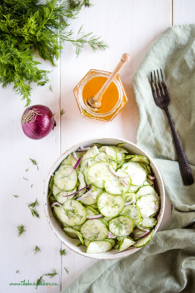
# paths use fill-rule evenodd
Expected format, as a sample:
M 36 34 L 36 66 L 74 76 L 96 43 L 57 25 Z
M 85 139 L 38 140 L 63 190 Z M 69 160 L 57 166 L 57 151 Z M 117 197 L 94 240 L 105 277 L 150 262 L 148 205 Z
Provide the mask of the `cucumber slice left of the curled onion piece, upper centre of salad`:
M 105 161 L 95 163 L 87 171 L 87 180 L 96 187 L 103 188 L 106 180 L 113 180 L 115 177 L 109 166 L 112 166 L 112 164 Z

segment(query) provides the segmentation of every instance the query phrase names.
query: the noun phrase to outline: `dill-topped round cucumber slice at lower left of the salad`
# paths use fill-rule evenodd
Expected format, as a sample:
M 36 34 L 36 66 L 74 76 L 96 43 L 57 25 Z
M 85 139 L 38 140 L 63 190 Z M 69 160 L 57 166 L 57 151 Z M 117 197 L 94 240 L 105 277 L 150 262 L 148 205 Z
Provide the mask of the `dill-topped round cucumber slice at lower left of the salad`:
M 60 210 L 60 217 L 68 226 L 83 224 L 86 220 L 86 216 L 87 213 L 83 205 L 73 199 L 65 201 Z

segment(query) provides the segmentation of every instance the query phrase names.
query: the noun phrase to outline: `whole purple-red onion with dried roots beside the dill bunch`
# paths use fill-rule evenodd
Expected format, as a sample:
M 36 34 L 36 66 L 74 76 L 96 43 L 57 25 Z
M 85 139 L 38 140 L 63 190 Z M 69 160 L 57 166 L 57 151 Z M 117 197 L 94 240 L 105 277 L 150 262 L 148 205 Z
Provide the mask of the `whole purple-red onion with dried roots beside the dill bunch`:
M 56 121 L 51 110 L 43 105 L 34 105 L 26 108 L 21 125 L 24 134 L 32 139 L 41 139 L 54 130 Z

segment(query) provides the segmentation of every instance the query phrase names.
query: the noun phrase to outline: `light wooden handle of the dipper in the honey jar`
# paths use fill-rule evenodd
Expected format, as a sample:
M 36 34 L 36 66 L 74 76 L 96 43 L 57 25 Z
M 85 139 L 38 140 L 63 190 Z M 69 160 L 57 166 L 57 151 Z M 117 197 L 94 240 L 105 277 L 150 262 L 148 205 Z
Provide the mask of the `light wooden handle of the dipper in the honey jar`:
M 102 99 L 103 94 L 107 90 L 108 86 L 111 84 L 113 79 L 116 77 L 120 69 L 123 67 L 123 65 L 130 60 L 130 55 L 127 53 L 122 54 L 121 59 L 111 75 L 106 80 L 105 84 L 101 87 L 101 89 L 96 93 L 96 95 L 92 98 L 94 102 L 100 102 Z

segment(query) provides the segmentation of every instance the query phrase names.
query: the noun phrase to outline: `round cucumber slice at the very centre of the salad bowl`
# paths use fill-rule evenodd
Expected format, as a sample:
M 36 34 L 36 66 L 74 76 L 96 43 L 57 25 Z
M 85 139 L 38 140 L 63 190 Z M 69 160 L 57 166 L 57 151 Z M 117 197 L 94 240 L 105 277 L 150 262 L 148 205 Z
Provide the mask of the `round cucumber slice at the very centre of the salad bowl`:
M 101 193 L 97 200 L 97 206 L 105 217 L 116 217 L 124 208 L 125 200 L 121 195 Z

